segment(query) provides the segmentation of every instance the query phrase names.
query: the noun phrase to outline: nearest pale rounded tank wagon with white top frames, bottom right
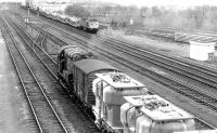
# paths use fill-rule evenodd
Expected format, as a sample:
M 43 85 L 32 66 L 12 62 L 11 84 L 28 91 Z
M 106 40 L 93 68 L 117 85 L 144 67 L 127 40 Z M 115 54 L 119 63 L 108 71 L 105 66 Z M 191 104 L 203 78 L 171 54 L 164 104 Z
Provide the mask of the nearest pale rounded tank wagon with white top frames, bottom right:
M 194 117 L 157 95 L 125 96 L 124 133 L 174 133 L 195 129 Z

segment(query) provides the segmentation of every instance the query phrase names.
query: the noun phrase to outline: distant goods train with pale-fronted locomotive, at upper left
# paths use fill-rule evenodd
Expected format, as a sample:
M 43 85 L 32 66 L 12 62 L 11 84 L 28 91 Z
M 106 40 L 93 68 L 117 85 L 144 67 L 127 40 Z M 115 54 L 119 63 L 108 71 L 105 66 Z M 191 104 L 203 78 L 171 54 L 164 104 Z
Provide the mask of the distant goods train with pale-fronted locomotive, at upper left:
M 28 9 L 27 6 L 22 6 L 22 8 L 25 10 Z M 95 18 L 80 18 L 80 17 L 69 16 L 66 14 L 60 14 L 60 13 L 55 13 L 55 12 L 53 12 L 53 13 L 46 12 L 46 11 L 41 11 L 36 8 L 29 8 L 29 11 L 35 14 L 38 14 L 40 16 L 48 17 L 53 21 L 67 24 L 75 28 L 79 28 L 79 29 L 82 29 L 85 31 L 89 31 L 92 34 L 97 34 L 99 30 L 99 26 L 100 26 L 99 21 L 97 21 Z

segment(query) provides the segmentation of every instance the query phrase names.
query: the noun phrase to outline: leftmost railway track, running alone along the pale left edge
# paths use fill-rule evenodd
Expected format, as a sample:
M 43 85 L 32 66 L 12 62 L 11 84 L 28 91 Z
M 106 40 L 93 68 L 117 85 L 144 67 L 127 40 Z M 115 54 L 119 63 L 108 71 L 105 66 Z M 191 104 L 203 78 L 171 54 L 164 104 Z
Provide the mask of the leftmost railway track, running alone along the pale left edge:
M 26 52 L 25 54 L 23 54 L 21 52 L 21 48 L 18 48 L 9 28 L 2 19 L 1 22 L 3 24 L 3 37 L 5 40 L 8 40 L 7 46 L 13 59 L 26 98 L 31 108 L 38 132 L 67 133 L 65 125 L 61 121 L 49 97 L 44 93 L 39 77 L 35 74 L 36 69 L 33 67 L 29 58 L 26 57 L 29 55 L 29 53 Z

